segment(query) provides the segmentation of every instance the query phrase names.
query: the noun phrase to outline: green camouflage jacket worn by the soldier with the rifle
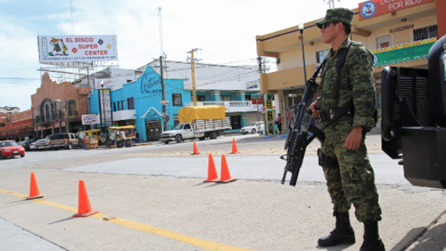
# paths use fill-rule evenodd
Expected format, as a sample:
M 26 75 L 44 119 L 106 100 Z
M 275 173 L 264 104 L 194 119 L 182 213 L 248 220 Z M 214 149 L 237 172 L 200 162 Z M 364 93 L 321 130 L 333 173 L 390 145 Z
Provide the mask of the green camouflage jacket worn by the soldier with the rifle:
M 322 92 L 318 98 L 322 112 L 335 106 L 336 64 L 340 49 L 349 44 L 350 39 L 347 38 L 337 51 L 333 51 L 332 48 L 326 56 L 327 62 L 322 69 Z M 362 43 L 354 42 L 351 45 L 341 71 L 338 107 L 345 107 L 353 100 L 355 115 L 342 116 L 324 129 L 326 135 L 324 145 L 345 141 L 353 127 L 357 125 L 361 125 L 364 129 L 372 129 L 375 125 L 373 113 L 376 107 L 376 93 L 372 73 L 373 61 L 373 55 L 362 46 Z

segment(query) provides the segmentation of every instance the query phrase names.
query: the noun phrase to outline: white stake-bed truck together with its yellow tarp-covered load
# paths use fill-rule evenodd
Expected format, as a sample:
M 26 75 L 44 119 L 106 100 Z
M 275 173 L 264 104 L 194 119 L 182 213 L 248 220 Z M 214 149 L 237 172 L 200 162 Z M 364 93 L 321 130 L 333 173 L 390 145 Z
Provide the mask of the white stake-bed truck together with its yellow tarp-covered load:
M 185 139 L 216 139 L 231 129 L 223 106 L 188 106 L 178 110 L 179 123 L 161 134 L 161 141 L 180 143 Z

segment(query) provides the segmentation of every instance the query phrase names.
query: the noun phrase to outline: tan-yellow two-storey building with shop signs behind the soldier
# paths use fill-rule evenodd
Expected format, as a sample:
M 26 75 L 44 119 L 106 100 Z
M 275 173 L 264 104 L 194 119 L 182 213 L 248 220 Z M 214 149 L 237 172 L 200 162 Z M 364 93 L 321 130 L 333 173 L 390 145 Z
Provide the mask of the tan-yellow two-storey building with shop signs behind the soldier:
M 381 71 L 385 66 L 427 68 L 429 48 L 445 34 L 444 17 L 439 16 L 438 20 L 437 13 L 445 13 L 446 7 L 445 0 L 408 0 L 401 1 L 399 5 L 389 0 L 367 1 L 370 2 L 374 5 L 371 6 L 372 15 L 370 11 L 365 11 L 364 2 L 352 9 L 354 16 L 350 38 L 362 42 L 375 55 L 373 72 L 380 108 Z M 330 44 L 322 43 L 320 29 L 315 25 L 323 18 L 321 16 L 304 24 L 307 78 L 314 74 L 315 68 L 331 48 Z M 276 111 L 286 114 L 291 104 L 300 102 L 305 88 L 299 28 L 290 27 L 257 36 L 256 39 L 257 55 L 274 57 L 278 63 L 276 72 L 260 74 L 261 92 L 276 94 Z M 320 82 L 320 77 L 317 81 Z

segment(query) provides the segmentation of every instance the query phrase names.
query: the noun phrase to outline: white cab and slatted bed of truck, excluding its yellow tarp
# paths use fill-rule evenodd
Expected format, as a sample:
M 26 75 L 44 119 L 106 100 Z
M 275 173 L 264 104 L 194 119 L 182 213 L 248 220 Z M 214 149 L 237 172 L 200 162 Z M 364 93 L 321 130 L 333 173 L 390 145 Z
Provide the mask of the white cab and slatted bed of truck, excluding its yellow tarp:
M 228 117 L 223 120 L 195 120 L 192 123 L 176 124 L 171 130 L 161 134 L 160 141 L 168 144 L 171 141 L 180 143 L 185 139 L 216 139 L 222 131 L 230 129 Z

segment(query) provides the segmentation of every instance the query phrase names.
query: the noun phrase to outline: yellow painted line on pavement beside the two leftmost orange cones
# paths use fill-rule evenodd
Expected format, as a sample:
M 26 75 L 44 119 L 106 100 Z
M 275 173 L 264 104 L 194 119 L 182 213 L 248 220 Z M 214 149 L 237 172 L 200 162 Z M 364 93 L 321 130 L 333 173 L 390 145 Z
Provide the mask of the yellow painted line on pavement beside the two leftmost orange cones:
M 27 196 L 25 194 L 7 191 L 7 190 L 3 190 L 3 189 L 0 189 L 0 192 L 15 195 L 15 196 L 21 197 L 21 198 Z M 65 211 L 77 213 L 76 207 L 59 204 L 59 203 L 52 202 L 52 201 L 45 200 L 45 199 L 33 199 L 32 201 L 41 203 L 44 205 L 56 207 L 59 209 L 63 209 Z M 166 229 L 161 229 L 161 228 L 157 228 L 157 227 L 150 226 L 147 224 L 143 224 L 143 223 L 139 223 L 139 222 L 135 222 L 135 221 L 131 221 L 131 220 L 126 220 L 126 219 L 122 219 L 122 218 L 118 218 L 118 217 L 116 217 L 115 219 L 112 219 L 110 221 L 105 221 L 104 218 L 107 218 L 109 216 L 110 215 L 96 213 L 96 214 L 91 215 L 90 217 L 102 220 L 104 222 L 118 224 L 123 227 L 131 228 L 131 229 L 134 229 L 137 231 L 141 231 L 141 232 L 145 232 L 145 233 L 149 233 L 149 234 L 155 234 L 155 235 L 159 235 L 159 236 L 164 236 L 164 237 L 167 237 L 167 238 L 170 238 L 173 240 L 177 240 L 177 241 L 187 243 L 187 244 L 190 244 L 190 245 L 193 245 L 196 247 L 200 247 L 205 250 L 211 250 L 211 251 L 255 251 L 255 250 L 251 250 L 251 249 L 244 249 L 244 248 L 239 248 L 239 247 L 227 246 L 227 245 L 223 245 L 220 243 L 210 242 L 210 241 L 206 241 L 203 239 L 198 239 L 195 237 L 178 234 L 178 233 L 166 230 Z

